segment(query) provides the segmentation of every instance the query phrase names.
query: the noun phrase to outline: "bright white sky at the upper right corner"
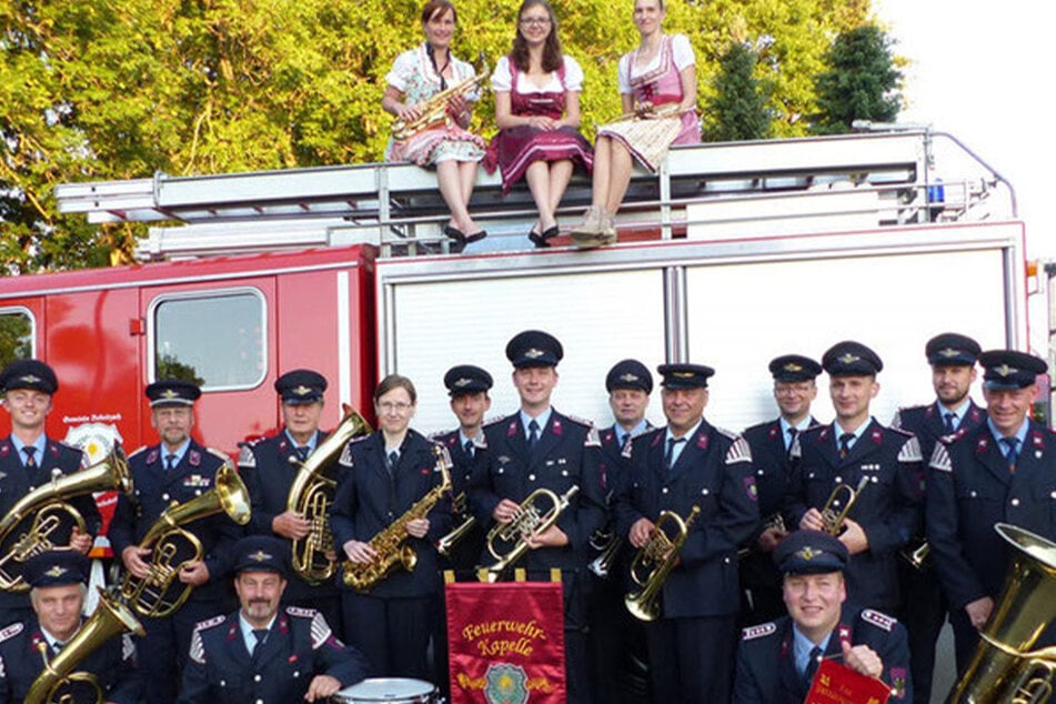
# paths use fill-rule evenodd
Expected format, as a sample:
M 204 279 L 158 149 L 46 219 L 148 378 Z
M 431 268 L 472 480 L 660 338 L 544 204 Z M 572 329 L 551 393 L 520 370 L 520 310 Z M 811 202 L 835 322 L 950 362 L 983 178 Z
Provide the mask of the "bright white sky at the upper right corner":
M 976 152 L 1015 189 L 1027 257 L 1056 258 L 1056 8 L 1037 0 L 873 0 L 895 39 L 908 107 L 899 122 L 931 124 Z

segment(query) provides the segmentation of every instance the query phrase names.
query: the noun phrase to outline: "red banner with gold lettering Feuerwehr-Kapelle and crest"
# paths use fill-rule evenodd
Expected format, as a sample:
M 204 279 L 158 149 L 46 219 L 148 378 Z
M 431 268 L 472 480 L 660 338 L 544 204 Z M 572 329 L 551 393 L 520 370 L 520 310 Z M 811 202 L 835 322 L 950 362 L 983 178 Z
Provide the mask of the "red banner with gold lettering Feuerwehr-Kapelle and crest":
M 563 704 L 561 584 L 446 585 L 451 704 Z

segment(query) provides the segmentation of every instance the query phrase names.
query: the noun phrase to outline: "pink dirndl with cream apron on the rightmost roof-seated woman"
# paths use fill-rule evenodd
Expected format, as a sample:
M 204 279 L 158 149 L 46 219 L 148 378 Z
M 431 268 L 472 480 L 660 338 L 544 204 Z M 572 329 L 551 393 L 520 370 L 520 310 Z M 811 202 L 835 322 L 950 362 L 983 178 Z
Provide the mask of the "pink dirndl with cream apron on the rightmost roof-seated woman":
M 631 74 L 637 49 L 621 60 L 621 70 L 631 74 L 630 84 L 635 103 L 648 101 L 655 109 L 682 102 L 682 76 L 675 62 L 674 39 L 671 34 L 665 34 L 658 63 L 637 76 Z M 684 37 L 681 39 L 688 43 Z M 701 142 L 701 120 L 696 111 L 683 112 L 677 118 L 623 120 L 599 127 L 597 137 L 618 141 L 638 163 L 651 173 L 656 173 L 672 144 Z

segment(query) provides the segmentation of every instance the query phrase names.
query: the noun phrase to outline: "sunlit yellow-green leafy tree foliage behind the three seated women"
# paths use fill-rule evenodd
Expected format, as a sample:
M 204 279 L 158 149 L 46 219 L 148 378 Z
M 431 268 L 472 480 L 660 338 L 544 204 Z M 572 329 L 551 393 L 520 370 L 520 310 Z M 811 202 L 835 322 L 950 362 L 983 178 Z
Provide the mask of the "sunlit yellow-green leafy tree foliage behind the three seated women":
M 455 53 L 507 52 L 520 0 L 459 0 Z M 620 112 L 631 0 L 553 0 L 586 74 L 583 127 Z M 668 0 L 690 37 L 701 103 L 731 42 L 764 46 L 776 135 L 805 132 L 813 77 L 868 0 Z M 380 99 L 398 53 L 422 41 L 422 0 L 0 0 L 0 263 L 8 272 L 100 265 L 135 225 L 60 215 L 58 183 L 378 161 Z M 765 40 L 765 41 L 760 41 Z M 490 98 L 475 127 L 494 132 Z

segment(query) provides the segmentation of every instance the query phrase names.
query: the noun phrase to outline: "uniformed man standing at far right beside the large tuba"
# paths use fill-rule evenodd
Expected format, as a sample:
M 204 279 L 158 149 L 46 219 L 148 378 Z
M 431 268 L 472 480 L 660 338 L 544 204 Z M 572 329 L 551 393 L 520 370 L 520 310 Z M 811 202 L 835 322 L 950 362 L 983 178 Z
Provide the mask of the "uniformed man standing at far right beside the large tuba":
M 994 525 L 1056 540 L 1056 436 L 1028 416 L 1048 365 L 1014 350 L 984 352 L 979 363 L 989 418 L 943 438 L 927 477 L 927 539 L 962 672 L 1007 572 L 1008 546 Z

